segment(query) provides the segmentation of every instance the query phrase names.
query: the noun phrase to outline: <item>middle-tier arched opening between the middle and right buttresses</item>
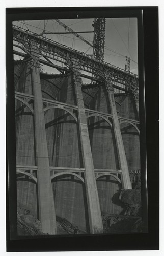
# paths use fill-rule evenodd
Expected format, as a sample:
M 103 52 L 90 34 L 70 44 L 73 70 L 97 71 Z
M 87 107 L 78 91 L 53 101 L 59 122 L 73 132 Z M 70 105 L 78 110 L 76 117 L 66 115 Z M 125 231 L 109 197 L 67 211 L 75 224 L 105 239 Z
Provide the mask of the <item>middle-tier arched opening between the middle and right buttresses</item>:
M 95 169 L 119 169 L 112 123 L 98 114 L 89 115 L 88 131 Z

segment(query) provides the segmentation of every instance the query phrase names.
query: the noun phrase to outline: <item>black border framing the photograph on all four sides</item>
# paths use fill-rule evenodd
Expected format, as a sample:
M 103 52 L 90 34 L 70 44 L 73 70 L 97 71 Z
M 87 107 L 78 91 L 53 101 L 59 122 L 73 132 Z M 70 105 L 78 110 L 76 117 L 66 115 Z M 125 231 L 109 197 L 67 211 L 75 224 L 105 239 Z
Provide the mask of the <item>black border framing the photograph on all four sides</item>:
M 34 19 L 138 18 L 139 98 L 143 218 L 148 230 L 138 234 L 87 236 L 17 236 L 16 151 L 12 22 Z M 6 209 L 7 251 L 108 251 L 159 249 L 159 49 L 158 7 L 6 8 Z M 145 81 L 145 82 L 144 82 Z M 147 161 L 146 161 L 147 157 Z M 147 185 L 146 185 L 147 184 Z M 148 199 L 147 199 L 148 195 Z M 148 210 L 147 210 L 148 205 Z M 147 218 L 148 216 L 148 218 Z M 28 240 L 27 240 L 28 239 Z

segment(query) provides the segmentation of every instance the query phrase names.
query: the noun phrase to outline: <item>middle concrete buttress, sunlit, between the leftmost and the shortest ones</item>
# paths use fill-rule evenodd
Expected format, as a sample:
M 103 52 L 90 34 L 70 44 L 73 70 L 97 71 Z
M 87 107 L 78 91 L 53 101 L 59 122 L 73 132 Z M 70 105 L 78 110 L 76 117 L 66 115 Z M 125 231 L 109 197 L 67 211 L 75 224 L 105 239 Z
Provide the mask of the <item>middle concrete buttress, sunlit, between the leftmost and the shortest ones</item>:
M 83 94 L 81 91 L 81 81 L 79 77 L 78 59 L 72 58 L 70 68 L 73 71 L 74 87 L 76 101 L 78 106 L 78 124 L 81 141 L 81 151 L 83 155 L 83 164 L 85 170 L 85 186 L 87 194 L 88 214 L 90 233 L 103 233 L 102 217 L 100 211 L 100 203 L 94 174 L 94 166 L 92 152 L 88 134 L 87 120 L 83 102 Z

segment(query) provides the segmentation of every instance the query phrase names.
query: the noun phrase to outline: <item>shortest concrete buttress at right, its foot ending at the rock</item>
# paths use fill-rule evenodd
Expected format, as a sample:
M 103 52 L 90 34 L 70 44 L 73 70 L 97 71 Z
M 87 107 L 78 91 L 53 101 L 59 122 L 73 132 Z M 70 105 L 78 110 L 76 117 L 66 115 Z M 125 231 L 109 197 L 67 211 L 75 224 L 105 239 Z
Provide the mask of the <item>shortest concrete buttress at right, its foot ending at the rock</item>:
M 112 84 L 110 83 L 110 79 L 105 76 L 105 83 L 106 83 L 106 89 L 108 93 L 108 98 L 110 102 L 110 109 L 111 114 L 113 115 L 113 129 L 115 134 L 115 140 L 116 140 L 116 147 L 117 147 L 117 154 L 118 154 L 118 160 L 119 160 L 119 169 L 122 170 L 121 172 L 121 183 L 123 189 L 131 189 L 131 181 L 130 181 L 130 175 L 120 130 L 120 124 L 119 119 L 117 116 L 117 110 L 116 110 L 116 104 L 114 99 L 114 91 L 112 88 Z

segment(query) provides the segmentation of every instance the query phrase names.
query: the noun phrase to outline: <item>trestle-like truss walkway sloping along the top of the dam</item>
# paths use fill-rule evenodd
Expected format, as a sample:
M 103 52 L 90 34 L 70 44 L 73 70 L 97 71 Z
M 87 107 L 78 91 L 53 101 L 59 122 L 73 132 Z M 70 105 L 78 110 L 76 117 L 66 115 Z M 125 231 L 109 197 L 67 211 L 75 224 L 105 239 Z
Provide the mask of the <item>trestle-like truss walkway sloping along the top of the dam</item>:
M 36 33 L 26 31 L 25 29 L 21 29 L 17 26 L 13 26 L 13 39 L 23 46 L 30 44 L 30 41 L 35 41 L 42 56 L 43 53 L 45 53 L 44 56 L 48 58 L 56 59 L 61 62 L 64 61 L 66 66 L 66 59 L 71 59 L 72 57 L 78 58 L 81 71 L 89 72 L 91 74 L 96 74 L 99 72 L 108 74 L 113 81 L 117 81 L 118 83 L 120 81 L 121 83 L 126 84 L 125 89 L 135 89 L 135 94 L 138 94 L 138 76 L 133 73 L 129 73 L 109 63 L 97 61 L 85 53 L 81 53 L 70 47 L 59 44 L 56 41 L 52 41 L 51 39 L 47 39 L 43 36 L 37 35 Z M 28 54 L 27 51 L 26 54 Z M 40 59 L 39 61 L 41 62 L 42 60 Z M 53 66 L 53 64 L 48 61 L 46 63 Z M 63 70 L 62 67 L 59 68 Z M 90 78 L 91 80 L 103 81 L 101 78 L 92 78 L 86 74 L 80 74 L 80 76 Z M 120 90 L 122 90 L 121 87 Z

